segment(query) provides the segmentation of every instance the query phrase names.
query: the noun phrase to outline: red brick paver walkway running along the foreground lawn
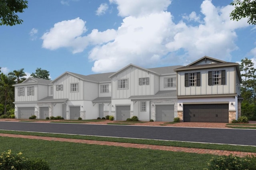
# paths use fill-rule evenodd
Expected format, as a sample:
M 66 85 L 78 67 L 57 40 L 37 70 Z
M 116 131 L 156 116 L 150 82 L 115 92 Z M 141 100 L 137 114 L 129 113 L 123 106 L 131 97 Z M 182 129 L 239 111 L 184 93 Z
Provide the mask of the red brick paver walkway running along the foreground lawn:
M 14 134 L 5 134 L 5 133 L 0 133 L 0 136 L 1 137 L 27 138 L 27 139 L 41 139 L 41 140 L 47 140 L 47 141 L 60 141 L 60 142 L 74 142 L 74 143 L 85 143 L 85 144 L 95 144 L 95 145 L 108 145 L 108 146 L 126 147 L 126 148 L 167 150 L 167 151 L 173 151 L 173 152 L 190 152 L 190 153 L 198 153 L 198 154 L 214 154 L 214 155 L 225 155 L 225 156 L 233 154 L 233 155 L 240 156 L 240 157 L 246 156 L 246 155 L 256 156 L 256 153 L 254 153 L 254 152 L 237 152 L 237 151 L 228 151 L 228 150 L 169 147 L 169 146 L 145 145 L 145 144 L 134 144 L 134 143 L 118 143 L 118 142 L 91 141 L 91 140 L 82 140 L 82 139 L 66 139 L 66 138 L 57 138 L 57 137 L 14 135 Z

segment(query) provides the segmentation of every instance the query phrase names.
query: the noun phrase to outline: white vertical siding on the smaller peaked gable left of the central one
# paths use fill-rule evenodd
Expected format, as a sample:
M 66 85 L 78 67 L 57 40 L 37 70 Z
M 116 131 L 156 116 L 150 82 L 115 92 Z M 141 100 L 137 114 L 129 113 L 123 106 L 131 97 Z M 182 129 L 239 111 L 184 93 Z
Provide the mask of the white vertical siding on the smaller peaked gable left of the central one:
M 72 83 L 78 83 L 79 91 L 70 92 Z M 63 85 L 63 90 L 56 90 L 56 85 Z M 53 84 L 54 99 L 84 100 L 84 82 L 70 74 L 65 74 L 56 80 Z

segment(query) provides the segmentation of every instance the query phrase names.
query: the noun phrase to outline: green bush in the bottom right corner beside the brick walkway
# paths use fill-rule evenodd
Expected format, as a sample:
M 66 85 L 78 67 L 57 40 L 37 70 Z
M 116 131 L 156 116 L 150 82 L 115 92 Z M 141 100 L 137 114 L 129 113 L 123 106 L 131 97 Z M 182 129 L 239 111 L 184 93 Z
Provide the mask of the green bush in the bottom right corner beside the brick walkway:
M 208 168 L 204 170 L 256 170 L 256 157 L 238 157 L 230 154 L 229 156 L 219 156 L 212 158 L 207 163 Z

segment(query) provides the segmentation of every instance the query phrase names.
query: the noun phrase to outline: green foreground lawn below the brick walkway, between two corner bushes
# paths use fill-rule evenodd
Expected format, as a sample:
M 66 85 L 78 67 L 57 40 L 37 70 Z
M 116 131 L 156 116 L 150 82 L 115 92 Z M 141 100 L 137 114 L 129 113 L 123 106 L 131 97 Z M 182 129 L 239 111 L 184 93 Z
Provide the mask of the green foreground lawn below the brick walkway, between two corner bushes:
M 42 158 L 53 170 L 202 170 L 209 154 L 134 149 L 36 139 L 0 137 L 0 152 L 11 149 Z

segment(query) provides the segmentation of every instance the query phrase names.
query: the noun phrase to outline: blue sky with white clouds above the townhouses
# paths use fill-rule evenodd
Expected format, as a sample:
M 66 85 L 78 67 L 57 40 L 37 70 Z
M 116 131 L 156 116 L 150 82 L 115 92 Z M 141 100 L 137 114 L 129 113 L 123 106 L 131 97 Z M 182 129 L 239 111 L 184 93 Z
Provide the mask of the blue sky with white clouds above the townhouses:
M 2 72 L 112 72 L 186 65 L 205 55 L 256 63 L 255 26 L 231 0 L 29 0 L 21 25 L 0 26 Z

